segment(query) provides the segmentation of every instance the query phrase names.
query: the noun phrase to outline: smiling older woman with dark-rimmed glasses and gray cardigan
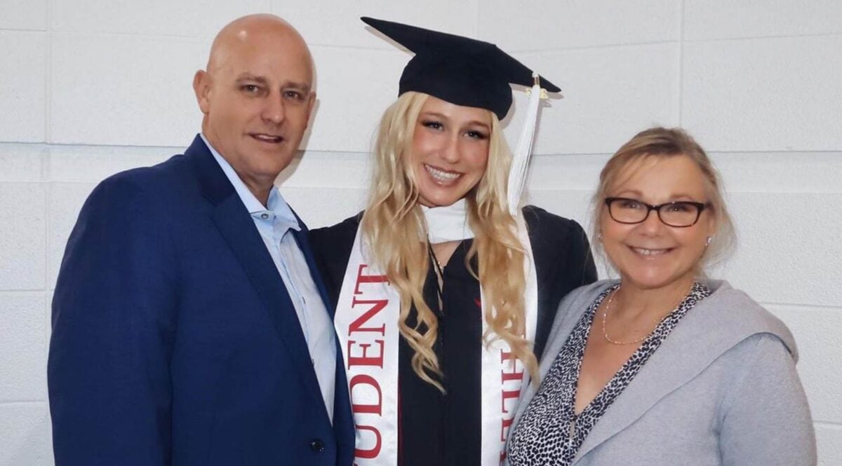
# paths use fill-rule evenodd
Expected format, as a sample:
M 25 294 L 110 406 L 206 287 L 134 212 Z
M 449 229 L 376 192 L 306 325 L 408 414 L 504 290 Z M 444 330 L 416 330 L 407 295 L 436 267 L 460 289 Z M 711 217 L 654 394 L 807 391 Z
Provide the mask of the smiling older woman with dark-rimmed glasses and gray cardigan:
M 629 140 L 600 175 L 594 230 L 620 279 L 560 304 L 508 463 L 815 464 L 790 331 L 703 273 L 733 228 L 701 146 L 663 128 Z

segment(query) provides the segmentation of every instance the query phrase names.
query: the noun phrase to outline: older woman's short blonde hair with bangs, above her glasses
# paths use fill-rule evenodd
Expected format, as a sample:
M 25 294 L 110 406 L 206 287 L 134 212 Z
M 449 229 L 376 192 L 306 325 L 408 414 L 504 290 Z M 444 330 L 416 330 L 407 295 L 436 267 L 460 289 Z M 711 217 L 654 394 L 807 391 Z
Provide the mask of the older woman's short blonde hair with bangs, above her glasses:
M 621 181 L 619 177 L 626 168 L 641 167 L 642 163 L 651 157 L 674 156 L 688 157 L 701 170 L 707 193 L 707 209 L 714 215 L 717 225 L 717 231 L 711 237 L 710 244 L 695 264 L 696 274 L 703 276 L 705 267 L 726 258 L 733 250 L 736 234 L 722 195 L 722 180 L 719 172 L 699 143 L 680 128 L 655 127 L 641 131 L 605 163 L 605 167 L 600 172 L 600 185 L 591 202 L 591 218 L 593 219 L 591 234 L 594 235 L 592 237 L 599 236 L 602 230 L 602 217 L 607 209 L 605 197 L 609 195 L 609 190 Z M 594 249 L 605 257 L 599 241 L 596 241 Z

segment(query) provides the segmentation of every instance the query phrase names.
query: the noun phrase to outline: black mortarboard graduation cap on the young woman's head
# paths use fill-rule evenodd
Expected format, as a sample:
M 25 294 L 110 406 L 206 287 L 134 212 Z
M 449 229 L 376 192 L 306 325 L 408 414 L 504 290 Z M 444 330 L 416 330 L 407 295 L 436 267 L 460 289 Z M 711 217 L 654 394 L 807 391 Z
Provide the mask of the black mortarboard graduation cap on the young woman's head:
M 403 68 L 397 95 L 427 93 L 456 105 L 491 110 L 504 119 L 512 105 L 509 83 L 531 87 L 532 71 L 497 45 L 455 34 L 361 18 L 365 24 L 415 53 Z M 547 92 L 561 91 L 541 77 Z

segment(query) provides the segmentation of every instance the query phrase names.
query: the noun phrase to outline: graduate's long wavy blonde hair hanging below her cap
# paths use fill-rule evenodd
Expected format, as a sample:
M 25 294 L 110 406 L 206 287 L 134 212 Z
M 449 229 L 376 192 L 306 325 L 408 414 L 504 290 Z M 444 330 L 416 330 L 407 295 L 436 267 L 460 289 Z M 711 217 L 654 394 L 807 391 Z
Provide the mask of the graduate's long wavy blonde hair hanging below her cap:
M 374 245 L 370 248 L 374 260 L 400 294 L 399 328 L 415 351 L 413 370 L 444 392 L 439 359 L 433 349 L 439 320 L 424 302 L 424 283 L 429 272 L 427 225 L 418 204 L 418 183 L 409 163 L 418 114 L 427 98 L 424 93 L 403 93 L 383 114 L 361 228 L 368 244 Z M 506 201 L 511 154 L 500 122 L 492 112 L 488 114 L 492 120 L 488 163 L 482 179 L 466 194 L 468 223 L 475 238 L 465 266 L 482 284 L 488 322 L 484 341 L 491 341 L 492 332 L 504 339 L 514 357 L 535 375 L 536 357 L 524 337 L 526 255 Z M 478 270 L 471 267 L 473 257 L 477 257 Z M 413 307 L 414 319 L 410 315 Z

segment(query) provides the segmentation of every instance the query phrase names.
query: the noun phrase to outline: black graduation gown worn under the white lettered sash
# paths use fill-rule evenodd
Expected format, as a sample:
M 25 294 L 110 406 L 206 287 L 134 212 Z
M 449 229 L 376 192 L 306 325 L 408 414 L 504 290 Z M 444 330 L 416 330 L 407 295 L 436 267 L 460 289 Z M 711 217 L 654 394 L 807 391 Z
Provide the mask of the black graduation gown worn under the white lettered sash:
M 559 302 L 569 291 L 596 280 L 588 238 L 573 220 L 544 209 L 523 209 L 536 262 L 538 318 L 536 355 L 541 355 Z M 335 306 L 361 214 L 311 230 L 316 262 Z M 439 313 L 434 350 L 444 374 L 443 395 L 413 372 L 413 350 L 398 347 L 399 438 L 401 466 L 470 466 L 480 460 L 480 357 L 482 308 L 479 282 L 465 267 L 472 240 L 462 241 L 444 269 L 443 310 L 438 309 L 436 278 L 429 267 L 424 299 Z M 473 267 L 476 267 L 476 258 Z M 476 268 L 475 268 L 476 270 Z

